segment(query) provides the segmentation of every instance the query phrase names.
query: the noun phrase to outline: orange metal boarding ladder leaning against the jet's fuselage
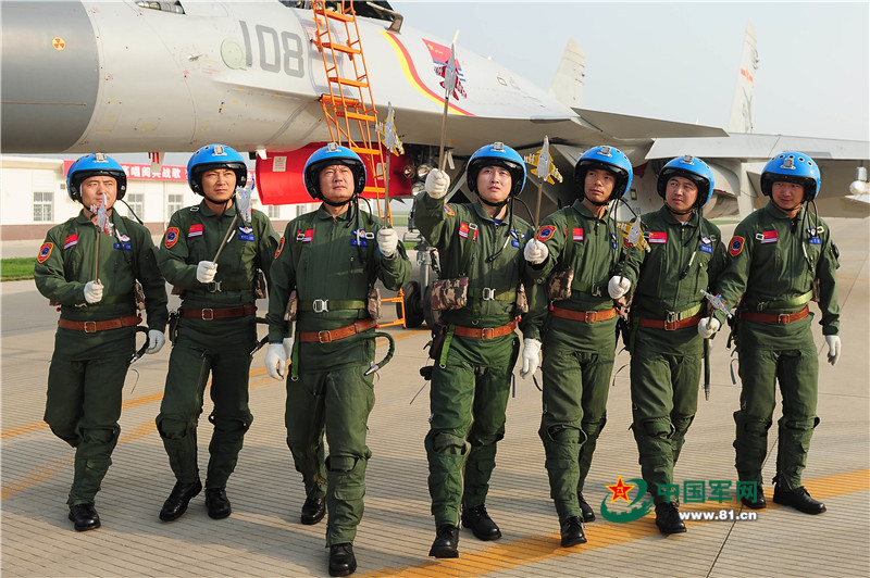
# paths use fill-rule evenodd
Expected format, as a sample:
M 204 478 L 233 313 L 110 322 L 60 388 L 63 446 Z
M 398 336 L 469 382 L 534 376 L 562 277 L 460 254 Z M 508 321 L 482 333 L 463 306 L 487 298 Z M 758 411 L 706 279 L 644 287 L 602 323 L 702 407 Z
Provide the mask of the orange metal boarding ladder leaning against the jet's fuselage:
M 386 183 L 384 176 L 383 149 L 381 147 L 381 135 L 375 129 L 377 124 L 377 110 L 372 97 L 372 88 L 369 85 L 369 71 L 365 66 L 365 58 L 362 54 L 362 43 L 360 42 L 360 30 L 357 26 L 357 13 L 353 11 L 352 1 L 337 2 L 339 10 L 330 10 L 323 0 L 314 0 L 311 3 L 314 11 L 314 25 L 316 32 L 313 42 L 323 56 L 323 66 L 326 70 L 326 84 L 330 93 L 320 97 L 323 106 L 323 115 L 326 118 L 326 126 L 330 129 L 330 138 L 333 142 L 344 144 L 360 155 L 368 165 L 368 172 L 372 175 L 373 186 L 366 184 L 363 194 L 374 197 L 377 204 L 377 215 L 393 226 L 393 213 L 389 209 L 389 201 L 386 199 Z M 333 35 L 331 23 L 334 23 L 338 32 Z M 341 41 L 341 26 L 346 41 Z M 346 55 L 352 65 L 352 77 L 341 76 L 338 62 L 341 55 Z M 348 73 L 350 66 L 347 66 Z M 350 95 L 350 96 L 349 96 Z M 381 211 L 381 199 L 385 199 L 385 214 Z M 396 302 L 401 310 L 401 316 L 395 322 L 378 324 L 380 327 L 391 325 L 405 325 L 405 296 L 399 289 L 395 298 L 383 299 L 384 302 Z

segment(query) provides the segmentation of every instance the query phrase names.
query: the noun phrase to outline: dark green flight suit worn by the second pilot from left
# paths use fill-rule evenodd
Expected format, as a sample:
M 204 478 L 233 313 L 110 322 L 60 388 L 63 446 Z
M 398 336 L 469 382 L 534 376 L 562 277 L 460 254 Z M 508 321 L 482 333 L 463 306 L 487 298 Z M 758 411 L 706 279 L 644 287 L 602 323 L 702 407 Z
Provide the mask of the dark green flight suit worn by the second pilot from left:
M 253 304 L 257 269 L 269 278 L 277 235 L 269 217 L 251 211 L 250 226 L 240 218 L 236 222 L 217 259 L 214 281 L 204 285 L 197 280 L 198 263 L 214 259 L 235 214 L 235 204 L 220 215 L 202 201 L 176 211 L 170 218 L 159 263 L 166 280 L 182 290 L 182 310 Z M 214 431 L 209 445 L 206 488 L 224 488 L 253 419 L 248 410 L 248 375 L 250 352 L 257 342 L 257 322 L 253 314 L 202 317 L 208 317 L 204 312 L 201 318 L 178 319 L 157 429 L 176 480 L 190 483 L 199 479 L 197 424 L 211 373 L 214 409 L 209 422 Z

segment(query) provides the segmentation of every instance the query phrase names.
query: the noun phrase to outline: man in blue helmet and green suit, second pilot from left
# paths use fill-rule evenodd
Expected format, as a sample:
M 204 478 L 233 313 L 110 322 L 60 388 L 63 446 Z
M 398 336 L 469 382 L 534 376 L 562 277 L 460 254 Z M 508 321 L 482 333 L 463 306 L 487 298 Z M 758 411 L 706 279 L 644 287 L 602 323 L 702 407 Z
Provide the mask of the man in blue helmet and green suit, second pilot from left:
M 160 511 L 164 522 L 181 517 L 202 490 L 197 423 L 210 373 L 214 409 L 209 422 L 214 431 L 206 507 L 214 519 L 232 513 L 226 481 L 253 419 L 248 410 L 248 372 L 257 342 L 256 280 L 258 269 L 269 277 L 277 249 L 277 235 L 263 213 L 251 211 L 250 224 L 234 218 L 239 208 L 233 196 L 247 178 L 244 159 L 231 147 L 208 144 L 196 151 L 187 163 L 187 183 L 202 202 L 176 211 L 163 236 L 160 269 L 182 298 L 177 326 L 170 324 L 173 348 L 157 416 L 176 479 Z M 229 242 L 214 262 L 225 238 Z

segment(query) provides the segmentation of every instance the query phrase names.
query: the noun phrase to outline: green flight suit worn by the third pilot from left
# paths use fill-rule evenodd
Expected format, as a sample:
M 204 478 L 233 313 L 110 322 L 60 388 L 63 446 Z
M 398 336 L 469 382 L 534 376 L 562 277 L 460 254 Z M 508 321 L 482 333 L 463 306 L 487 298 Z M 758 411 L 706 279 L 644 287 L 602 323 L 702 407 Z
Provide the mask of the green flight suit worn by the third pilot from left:
M 336 341 L 300 342 L 299 332 L 324 331 L 370 319 L 366 296 L 377 279 L 397 291 L 411 277 L 399 243 L 385 257 L 377 248 L 384 222 L 351 212 L 333 218 L 321 205 L 287 224 L 272 267 L 269 339 L 289 334 L 284 313 L 290 292 L 299 299 L 290 375 L 287 376 L 287 445 L 309 498 L 326 498 L 327 545 L 352 543 L 362 519 L 369 413 L 374 406 L 374 329 Z M 330 445 L 324 460 L 323 436 Z

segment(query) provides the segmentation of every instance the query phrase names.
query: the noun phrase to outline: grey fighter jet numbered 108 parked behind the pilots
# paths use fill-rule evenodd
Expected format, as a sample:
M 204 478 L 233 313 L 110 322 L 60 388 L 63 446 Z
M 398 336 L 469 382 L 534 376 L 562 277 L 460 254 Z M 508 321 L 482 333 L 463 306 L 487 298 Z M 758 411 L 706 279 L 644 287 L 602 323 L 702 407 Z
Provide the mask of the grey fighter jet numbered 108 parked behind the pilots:
M 3 0 L 0 10 L 4 153 L 181 152 L 220 141 L 256 154 L 264 203 L 307 202 L 301 169 L 313 149 L 336 138 L 322 102 L 350 98 L 328 97 L 331 78 L 344 76 L 351 85 L 362 78 L 382 114 L 393 104 L 405 154 L 391 163 L 391 194 L 422 190 L 435 165 L 444 108 L 436 70 L 449 58 L 450 41 L 407 25 L 387 2 L 355 2 L 351 23 L 328 23 L 330 41 L 320 36 L 312 2 L 303 1 Z M 737 122 L 729 131 L 582 109 L 585 62 L 573 40 L 549 91 L 461 46 L 457 63 L 465 98 L 449 101 L 453 177 L 462 160 L 495 136 L 525 154 L 548 137 L 554 163 L 568 175 L 588 147 L 610 143 L 635 165 L 626 200 L 644 212 L 660 205 L 658 168 L 691 153 L 716 173 L 717 212 L 745 214 L 761 201 L 763 161 L 798 149 L 816 158 L 824 175 L 820 210 L 828 202 L 831 211 L 855 215 L 856 205 L 870 206 L 862 201 L 867 142 L 729 134 L 751 127 L 757 53 L 749 30 Z M 859 175 L 853 183 L 858 201 L 846 198 L 856 166 L 865 168 L 862 180 Z M 457 188 L 462 180 L 453 178 Z M 570 202 L 572 187 L 571 178 L 547 185 L 544 214 Z M 524 194 L 533 196 L 527 189 Z M 831 211 L 822 213 L 837 214 Z

